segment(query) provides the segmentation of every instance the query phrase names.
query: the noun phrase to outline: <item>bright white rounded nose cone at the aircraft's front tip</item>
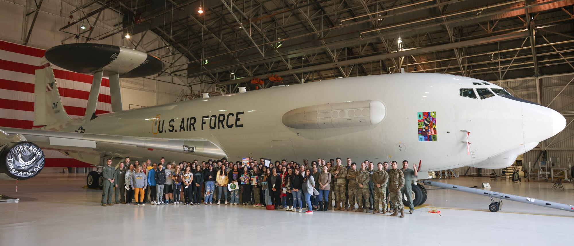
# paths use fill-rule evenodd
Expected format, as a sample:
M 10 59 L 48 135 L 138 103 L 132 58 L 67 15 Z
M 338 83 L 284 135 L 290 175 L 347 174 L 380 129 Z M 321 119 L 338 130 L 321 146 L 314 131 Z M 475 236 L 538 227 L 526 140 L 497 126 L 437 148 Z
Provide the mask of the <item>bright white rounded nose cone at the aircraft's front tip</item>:
M 566 119 L 560 113 L 535 103 L 522 103 L 522 128 L 525 143 L 538 143 L 561 132 Z

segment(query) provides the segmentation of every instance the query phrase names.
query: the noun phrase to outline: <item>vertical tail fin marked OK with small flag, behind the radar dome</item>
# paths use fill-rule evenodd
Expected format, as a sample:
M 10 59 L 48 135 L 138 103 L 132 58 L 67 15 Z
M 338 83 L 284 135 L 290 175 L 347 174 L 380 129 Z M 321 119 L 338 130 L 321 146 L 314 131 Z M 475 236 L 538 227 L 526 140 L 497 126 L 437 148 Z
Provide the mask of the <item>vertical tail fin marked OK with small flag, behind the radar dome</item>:
M 56 86 L 52 67 L 45 59 L 34 76 L 34 125 L 52 125 L 71 120 Z

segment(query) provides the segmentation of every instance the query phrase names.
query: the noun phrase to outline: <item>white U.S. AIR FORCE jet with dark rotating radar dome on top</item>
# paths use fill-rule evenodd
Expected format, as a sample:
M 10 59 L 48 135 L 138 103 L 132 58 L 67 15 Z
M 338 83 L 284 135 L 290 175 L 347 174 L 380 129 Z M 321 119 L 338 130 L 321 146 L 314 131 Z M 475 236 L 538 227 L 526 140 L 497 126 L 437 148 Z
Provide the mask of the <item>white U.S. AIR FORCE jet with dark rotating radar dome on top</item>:
M 102 44 L 59 45 L 46 51 L 46 59 L 95 75 L 86 116 L 70 120 L 46 66 L 36 70 L 34 112 L 34 125 L 45 126 L 2 129 L 95 165 L 104 157 L 263 156 L 420 160 L 419 171 L 504 168 L 566 125 L 560 113 L 495 84 L 428 73 L 340 78 L 122 110 L 119 77 L 157 74 L 160 59 Z M 96 116 L 103 75 L 110 77 L 114 112 Z M 46 84 L 53 90 L 46 92 Z

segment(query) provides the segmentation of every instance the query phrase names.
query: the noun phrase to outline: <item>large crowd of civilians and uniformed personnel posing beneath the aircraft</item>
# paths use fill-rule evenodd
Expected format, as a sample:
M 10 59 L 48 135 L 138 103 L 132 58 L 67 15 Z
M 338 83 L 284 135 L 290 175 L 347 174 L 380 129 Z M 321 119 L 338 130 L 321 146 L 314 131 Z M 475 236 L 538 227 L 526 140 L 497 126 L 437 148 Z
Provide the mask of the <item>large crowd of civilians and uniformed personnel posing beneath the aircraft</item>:
M 102 206 L 126 205 L 242 205 L 267 206 L 267 209 L 313 213 L 313 211 L 352 211 L 404 217 L 405 194 L 413 213 L 411 181 L 418 175 L 409 163 L 373 162 L 359 164 L 347 158 L 323 159 L 308 163 L 229 162 L 208 160 L 141 164 L 130 157 L 102 170 Z M 113 194 L 115 197 L 113 199 Z M 333 203 L 334 202 L 334 203 Z M 355 203 L 358 205 L 355 210 Z M 333 205 L 334 204 L 334 205 Z M 382 206 L 382 209 L 381 209 Z M 400 215 L 399 215 L 400 213 Z

